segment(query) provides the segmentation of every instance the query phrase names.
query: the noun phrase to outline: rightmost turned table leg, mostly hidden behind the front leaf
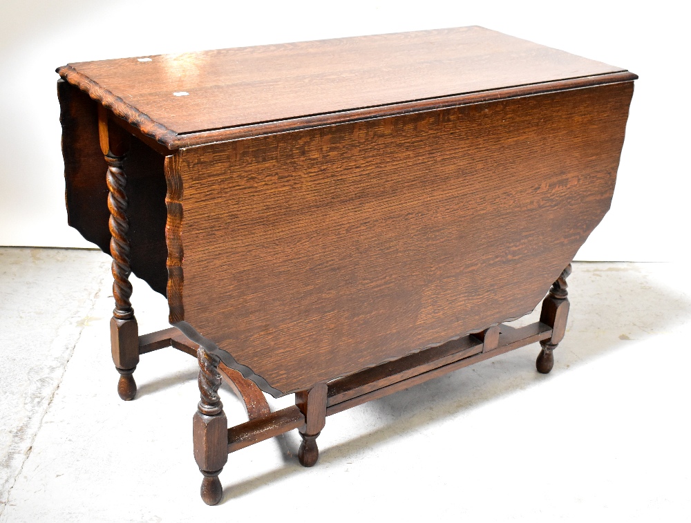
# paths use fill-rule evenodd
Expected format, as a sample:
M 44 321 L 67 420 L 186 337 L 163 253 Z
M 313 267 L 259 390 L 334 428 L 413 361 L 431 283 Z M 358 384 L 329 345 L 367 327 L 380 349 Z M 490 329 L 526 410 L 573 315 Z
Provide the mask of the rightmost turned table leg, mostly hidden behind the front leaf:
M 550 339 L 540 341 L 542 350 L 538 354 L 536 367 L 538 372 L 547 374 L 554 366 L 553 350 L 564 338 L 566 332 L 566 322 L 569 318 L 569 292 L 567 291 L 566 278 L 571 274 L 571 264 L 567 265 L 559 278 L 552 284 L 547 293 L 547 297 L 542 301 L 542 312 L 540 321 L 552 327 Z

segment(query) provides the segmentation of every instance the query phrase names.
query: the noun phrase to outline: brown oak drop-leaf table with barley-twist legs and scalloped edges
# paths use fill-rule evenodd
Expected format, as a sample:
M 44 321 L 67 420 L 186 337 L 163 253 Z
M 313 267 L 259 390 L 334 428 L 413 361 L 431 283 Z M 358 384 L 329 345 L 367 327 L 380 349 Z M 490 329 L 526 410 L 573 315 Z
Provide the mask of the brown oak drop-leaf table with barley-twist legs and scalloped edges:
M 636 79 L 479 27 L 57 72 L 69 222 L 113 257 L 117 390 L 146 352 L 198 358 L 208 504 L 245 446 L 297 428 L 312 466 L 341 410 L 534 342 L 549 372 Z M 132 273 L 171 328 L 139 334 Z

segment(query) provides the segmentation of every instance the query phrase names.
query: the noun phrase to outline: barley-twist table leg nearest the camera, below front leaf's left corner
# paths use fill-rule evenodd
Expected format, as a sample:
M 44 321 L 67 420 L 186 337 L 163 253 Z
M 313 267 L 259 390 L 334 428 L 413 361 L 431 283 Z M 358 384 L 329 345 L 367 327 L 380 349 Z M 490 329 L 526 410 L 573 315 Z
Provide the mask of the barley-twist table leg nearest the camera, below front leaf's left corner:
M 204 475 L 200 494 L 207 505 L 215 505 L 223 497 L 218 474 L 228 461 L 228 420 L 218 397 L 220 359 L 203 348 L 197 351 L 199 360 L 199 393 L 201 399 L 192 420 L 194 459 Z

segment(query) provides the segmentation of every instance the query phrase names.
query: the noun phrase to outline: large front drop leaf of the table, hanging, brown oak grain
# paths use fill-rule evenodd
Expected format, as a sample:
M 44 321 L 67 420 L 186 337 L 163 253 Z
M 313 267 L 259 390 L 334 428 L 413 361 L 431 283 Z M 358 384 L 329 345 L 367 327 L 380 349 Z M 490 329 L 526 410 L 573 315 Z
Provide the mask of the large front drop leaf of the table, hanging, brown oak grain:
M 632 93 L 182 149 L 171 311 L 286 394 L 522 316 L 609 209 Z

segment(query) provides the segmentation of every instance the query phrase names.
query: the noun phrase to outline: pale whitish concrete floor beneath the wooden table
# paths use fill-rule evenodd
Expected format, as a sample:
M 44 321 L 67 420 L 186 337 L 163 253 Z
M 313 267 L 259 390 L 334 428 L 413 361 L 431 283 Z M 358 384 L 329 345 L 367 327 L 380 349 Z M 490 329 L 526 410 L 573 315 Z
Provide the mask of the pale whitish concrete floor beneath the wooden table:
M 108 267 L 98 251 L 0 249 L 0 522 L 688 521 L 688 267 L 574 264 L 551 374 L 531 345 L 342 412 L 311 469 L 296 432 L 240 450 L 215 507 L 191 453 L 196 361 L 147 354 L 137 399 L 117 397 Z M 167 326 L 146 284 L 133 304 L 140 332 Z

